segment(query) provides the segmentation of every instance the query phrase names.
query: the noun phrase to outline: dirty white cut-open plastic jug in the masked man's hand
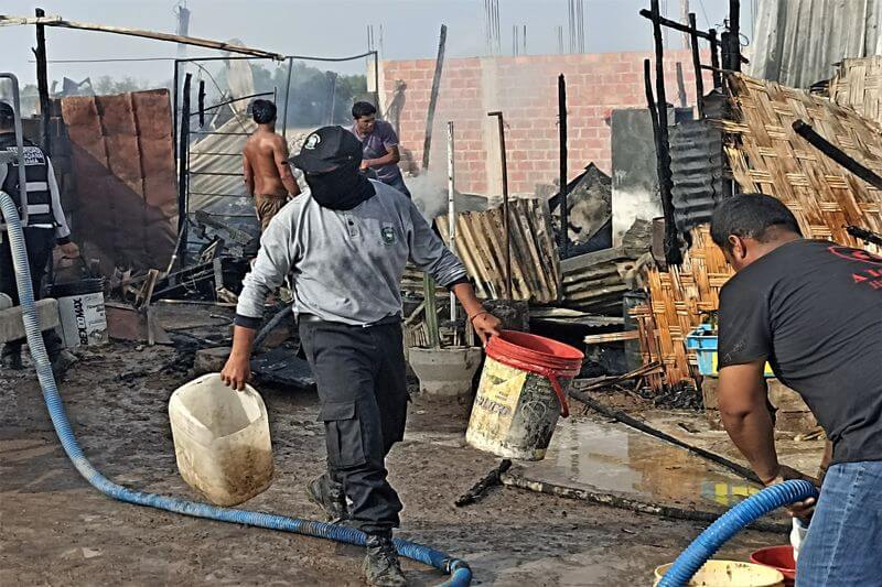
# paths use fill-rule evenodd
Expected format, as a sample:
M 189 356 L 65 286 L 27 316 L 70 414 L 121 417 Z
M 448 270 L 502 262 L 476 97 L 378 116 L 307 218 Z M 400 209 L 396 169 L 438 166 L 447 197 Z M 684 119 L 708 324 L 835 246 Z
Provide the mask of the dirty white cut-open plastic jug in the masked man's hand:
M 181 477 L 212 503 L 236 506 L 272 482 L 267 407 L 250 385 L 202 376 L 172 393 L 169 418 Z

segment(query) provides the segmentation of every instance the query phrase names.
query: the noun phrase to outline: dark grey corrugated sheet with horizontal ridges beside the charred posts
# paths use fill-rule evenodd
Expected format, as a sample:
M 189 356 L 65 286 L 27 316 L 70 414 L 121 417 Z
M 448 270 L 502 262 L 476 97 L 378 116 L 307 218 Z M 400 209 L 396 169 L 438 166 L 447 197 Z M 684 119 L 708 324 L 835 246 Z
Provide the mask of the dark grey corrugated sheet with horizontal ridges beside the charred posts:
M 707 121 L 690 120 L 670 129 L 674 219 L 680 232 L 709 222 L 722 197 L 722 133 Z

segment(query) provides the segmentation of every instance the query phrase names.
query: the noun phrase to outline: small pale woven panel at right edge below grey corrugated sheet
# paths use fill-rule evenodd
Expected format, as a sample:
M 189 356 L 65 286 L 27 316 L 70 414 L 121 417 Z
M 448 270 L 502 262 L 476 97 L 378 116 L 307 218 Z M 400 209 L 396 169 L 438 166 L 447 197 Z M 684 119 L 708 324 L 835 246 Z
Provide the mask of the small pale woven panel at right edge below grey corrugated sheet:
M 882 56 L 842 59 L 830 80 L 830 99 L 882 126 Z

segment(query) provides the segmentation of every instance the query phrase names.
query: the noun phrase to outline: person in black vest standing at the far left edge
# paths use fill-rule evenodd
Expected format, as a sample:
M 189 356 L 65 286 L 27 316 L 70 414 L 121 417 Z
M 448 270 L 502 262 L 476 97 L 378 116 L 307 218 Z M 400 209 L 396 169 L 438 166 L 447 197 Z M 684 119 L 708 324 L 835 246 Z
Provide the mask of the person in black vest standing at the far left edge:
M 0 151 L 18 152 L 15 146 L 14 113 L 12 107 L 0 101 Z M 28 183 L 28 226 L 24 227 L 24 241 L 28 248 L 28 263 L 34 298 L 40 300 L 46 264 L 52 250 L 57 244 L 62 254 L 68 259 L 79 257 L 79 248 L 71 241 L 71 229 L 64 218 L 58 184 L 52 162 L 43 150 L 24 141 L 24 174 Z M 17 164 L 0 163 L 0 189 L 9 194 L 21 213 L 19 196 L 19 171 Z M 15 286 L 15 270 L 12 265 L 12 251 L 6 235 L 6 225 L 0 221 L 0 292 L 9 295 L 18 305 L 19 292 Z M 55 330 L 43 333 L 53 370 L 61 376 L 69 367 L 73 357 L 63 350 L 62 341 Z M 21 369 L 21 348 L 24 340 L 13 340 L 3 346 L 0 365 L 3 369 Z

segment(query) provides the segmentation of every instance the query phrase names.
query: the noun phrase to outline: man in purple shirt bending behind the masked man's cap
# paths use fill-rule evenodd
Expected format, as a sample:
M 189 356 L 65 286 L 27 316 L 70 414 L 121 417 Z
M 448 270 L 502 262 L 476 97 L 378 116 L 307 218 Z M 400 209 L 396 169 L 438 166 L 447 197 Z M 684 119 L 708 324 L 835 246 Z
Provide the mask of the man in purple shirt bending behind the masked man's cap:
M 377 109 L 368 102 L 355 102 L 352 118 L 355 122 L 349 131 L 362 141 L 364 152 L 362 169 L 374 170 L 377 180 L 410 197 L 401 170 L 398 169 L 401 155 L 398 152 L 398 135 L 392 126 L 377 120 Z

